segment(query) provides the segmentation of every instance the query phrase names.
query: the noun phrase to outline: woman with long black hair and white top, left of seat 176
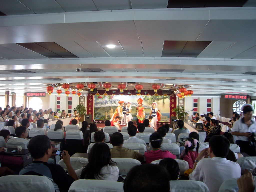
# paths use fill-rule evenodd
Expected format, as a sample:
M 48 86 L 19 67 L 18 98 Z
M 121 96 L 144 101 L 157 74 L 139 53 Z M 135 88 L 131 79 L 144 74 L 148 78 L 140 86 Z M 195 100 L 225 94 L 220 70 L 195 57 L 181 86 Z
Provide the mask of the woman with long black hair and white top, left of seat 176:
M 119 169 L 105 143 L 95 143 L 89 153 L 88 164 L 75 172 L 78 179 L 117 181 L 119 177 Z

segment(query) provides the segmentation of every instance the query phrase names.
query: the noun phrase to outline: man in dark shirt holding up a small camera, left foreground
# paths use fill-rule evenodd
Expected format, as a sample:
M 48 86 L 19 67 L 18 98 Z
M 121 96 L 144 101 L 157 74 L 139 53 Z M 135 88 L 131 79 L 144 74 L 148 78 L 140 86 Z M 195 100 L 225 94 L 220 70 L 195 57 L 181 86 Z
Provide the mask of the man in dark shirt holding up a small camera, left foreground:
M 33 163 L 23 168 L 19 175 L 46 176 L 52 181 L 56 191 L 68 191 L 71 184 L 77 180 L 77 175 L 71 166 L 67 151 L 64 151 L 62 157 L 67 166 L 68 174 L 60 165 L 47 163 L 53 151 L 50 139 L 47 136 L 38 135 L 31 138 L 28 150 L 33 157 Z

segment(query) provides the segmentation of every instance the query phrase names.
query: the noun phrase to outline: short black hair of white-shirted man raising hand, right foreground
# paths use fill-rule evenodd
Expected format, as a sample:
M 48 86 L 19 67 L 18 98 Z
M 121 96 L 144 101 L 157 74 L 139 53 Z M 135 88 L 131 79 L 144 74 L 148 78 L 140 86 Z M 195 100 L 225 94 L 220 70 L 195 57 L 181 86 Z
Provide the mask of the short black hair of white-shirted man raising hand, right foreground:
M 209 140 L 209 147 L 216 157 L 225 158 L 228 155 L 230 143 L 222 135 L 214 135 Z

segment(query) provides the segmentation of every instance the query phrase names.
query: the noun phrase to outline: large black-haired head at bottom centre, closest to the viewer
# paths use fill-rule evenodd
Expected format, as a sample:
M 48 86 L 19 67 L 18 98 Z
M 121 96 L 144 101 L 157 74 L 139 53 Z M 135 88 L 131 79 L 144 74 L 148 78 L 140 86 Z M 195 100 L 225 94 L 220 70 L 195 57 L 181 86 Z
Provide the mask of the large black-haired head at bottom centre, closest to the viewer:
M 170 191 L 168 172 L 159 165 L 137 165 L 129 171 L 124 180 L 124 192 L 156 191 Z

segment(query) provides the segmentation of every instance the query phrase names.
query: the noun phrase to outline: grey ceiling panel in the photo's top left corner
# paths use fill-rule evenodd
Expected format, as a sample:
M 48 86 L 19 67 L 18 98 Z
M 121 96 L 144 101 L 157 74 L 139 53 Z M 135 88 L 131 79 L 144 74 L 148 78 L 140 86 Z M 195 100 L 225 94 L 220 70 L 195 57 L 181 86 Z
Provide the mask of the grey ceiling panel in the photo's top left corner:
M 33 11 L 31 11 L 17 0 L 1 0 L 0 11 L 5 15 L 35 14 Z

